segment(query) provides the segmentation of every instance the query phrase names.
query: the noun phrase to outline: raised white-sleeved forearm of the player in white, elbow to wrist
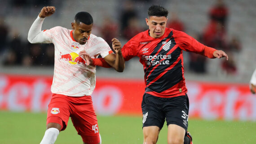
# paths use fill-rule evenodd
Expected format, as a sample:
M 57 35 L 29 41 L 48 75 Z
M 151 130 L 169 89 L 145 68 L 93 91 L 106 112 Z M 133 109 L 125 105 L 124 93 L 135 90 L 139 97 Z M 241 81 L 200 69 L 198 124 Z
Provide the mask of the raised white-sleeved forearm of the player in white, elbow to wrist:
M 27 40 L 34 44 L 34 43 L 42 43 L 44 39 L 40 36 L 42 24 L 44 22 L 44 18 L 37 17 L 33 24 L 31 25 L 29 31 L 28 31 L 28 36 Z

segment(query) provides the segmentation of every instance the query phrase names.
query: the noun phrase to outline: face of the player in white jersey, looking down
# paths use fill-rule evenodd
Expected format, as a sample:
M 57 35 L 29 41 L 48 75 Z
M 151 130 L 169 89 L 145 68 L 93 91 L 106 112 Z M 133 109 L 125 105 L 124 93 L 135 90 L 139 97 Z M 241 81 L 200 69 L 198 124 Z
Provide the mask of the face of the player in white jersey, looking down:
M 85 44 L 91 34 L 93 24 L 86 25 L 82 22 L 76 23 L 72 22 L 71 26 L 73 28 L 73 38 L 79 42 L 79 44 Z

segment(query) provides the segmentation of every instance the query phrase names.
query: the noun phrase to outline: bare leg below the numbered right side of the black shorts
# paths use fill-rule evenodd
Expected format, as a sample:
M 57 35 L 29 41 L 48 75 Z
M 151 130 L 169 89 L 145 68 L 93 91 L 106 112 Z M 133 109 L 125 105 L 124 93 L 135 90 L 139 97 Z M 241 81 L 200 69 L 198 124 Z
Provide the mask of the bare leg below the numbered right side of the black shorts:
M 168 144 L 183 144 L 185 129 L 175 124 L 168 125 Z

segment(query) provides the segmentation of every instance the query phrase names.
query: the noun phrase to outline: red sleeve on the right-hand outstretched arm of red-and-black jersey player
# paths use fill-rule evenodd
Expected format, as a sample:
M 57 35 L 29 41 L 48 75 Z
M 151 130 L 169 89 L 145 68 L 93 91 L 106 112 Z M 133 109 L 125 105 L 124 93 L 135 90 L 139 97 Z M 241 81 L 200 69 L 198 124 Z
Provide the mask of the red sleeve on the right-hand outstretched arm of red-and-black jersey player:
M 215 58 L 213 56 L 213 52 L 216 51 L 215 48 L 207 47 L 201 43 L 199 43 L 196 39 L 187 35 L 182 31 L 177 32 L 177 40 L 176 43 L 180 46 L 180 48 L 187 52 L 195 52 L 199 53 L 205 57 Z

